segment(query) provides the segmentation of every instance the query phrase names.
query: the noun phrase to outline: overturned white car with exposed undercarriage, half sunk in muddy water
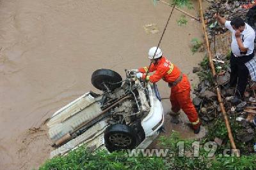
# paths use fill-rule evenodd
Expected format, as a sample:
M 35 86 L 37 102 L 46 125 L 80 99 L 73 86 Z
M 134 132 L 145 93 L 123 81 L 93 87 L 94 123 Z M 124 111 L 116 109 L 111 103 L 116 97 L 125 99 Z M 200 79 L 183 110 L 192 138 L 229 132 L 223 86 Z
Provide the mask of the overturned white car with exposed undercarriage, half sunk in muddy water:
M 109 152 L 147 148 L 163 130 L 164 114 L 157 86 L 144 83 L 136 73 L 126 78 L 109 69 L 92 74 L 92 84 L 102 94 L 88 92 L 52 115 L 47 123 L 56 149 L 63 155 L 83 143 Z

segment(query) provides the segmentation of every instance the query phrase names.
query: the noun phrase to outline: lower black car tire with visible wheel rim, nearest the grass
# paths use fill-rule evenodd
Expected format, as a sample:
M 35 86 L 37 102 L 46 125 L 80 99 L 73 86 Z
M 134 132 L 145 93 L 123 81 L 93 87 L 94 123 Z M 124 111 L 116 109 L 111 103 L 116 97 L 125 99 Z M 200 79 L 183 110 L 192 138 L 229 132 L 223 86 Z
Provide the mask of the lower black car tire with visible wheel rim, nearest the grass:
M 104 132 L 104 141 L 109 152 L 133 149 L 137 146 L 137 136 L 134 129 L 122 124 L 109 125 Z

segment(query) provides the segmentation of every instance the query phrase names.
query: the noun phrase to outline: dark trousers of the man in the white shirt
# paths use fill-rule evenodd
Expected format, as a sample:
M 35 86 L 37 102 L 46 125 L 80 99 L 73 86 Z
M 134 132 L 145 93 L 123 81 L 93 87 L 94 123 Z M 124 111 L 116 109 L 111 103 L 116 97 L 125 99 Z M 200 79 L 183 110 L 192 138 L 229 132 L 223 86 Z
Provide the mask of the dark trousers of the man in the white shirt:
M 250 55 L 244 55 L 241 57 L 235 57 L 234 54 L 231 52 L 231 58 L 230 58 L 230 87 L 236 87 L 237 84 L 237 90 L 236 96 L 243 98 L 244 91 L 246 89 L 246 85 L 248 83 L 248 76 L 249 71 L 247 67 L 245 66 L 245 63 L 251 60 L 254 56 L 254 53 Z

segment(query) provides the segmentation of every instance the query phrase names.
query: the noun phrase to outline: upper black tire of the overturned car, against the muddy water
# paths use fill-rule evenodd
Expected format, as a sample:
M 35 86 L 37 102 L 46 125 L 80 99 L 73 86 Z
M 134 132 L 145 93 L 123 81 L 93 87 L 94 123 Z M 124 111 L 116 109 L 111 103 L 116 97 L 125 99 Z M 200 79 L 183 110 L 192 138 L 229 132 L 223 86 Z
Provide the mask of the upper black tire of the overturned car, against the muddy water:
M 111 69 L 97 69 L 92 74 L 92 85 L 102 91 L 107 90 L 102 84 L 105 83 L 109 90 L 113 91 L 122 85 L 122 77 Z M 118 83 L 120 82 L 120 83 Z

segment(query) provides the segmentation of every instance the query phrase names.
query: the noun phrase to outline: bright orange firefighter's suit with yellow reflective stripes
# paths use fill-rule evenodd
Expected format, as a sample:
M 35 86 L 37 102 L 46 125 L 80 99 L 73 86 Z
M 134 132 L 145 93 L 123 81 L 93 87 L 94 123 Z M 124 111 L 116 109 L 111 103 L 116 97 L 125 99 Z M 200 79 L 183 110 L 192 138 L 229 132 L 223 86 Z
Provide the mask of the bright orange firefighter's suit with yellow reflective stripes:
M 140 73 L 147 73 L 148 67 L 142 67 L 139 69 Z M 143 74 L 143 79 L 156 83 L 161 78 L 168 82 L 173 83 L 173 81 L 179 78 L 181 71 L 177 66 L 172 64 L 166 57 L 162 57 L 158 60 L 157 64 L 152 64 L 148 72 L 156 71 L 152 76 L 146 76 Z M 177 85 L 171 87 L 170 101 L 172 103 L 172 111 L 177 113 L 180 108 L 188 116 L 189 122 L 193 125 L 193 129 L 197 129 L 200 126 L 200 120 L 198 118 L 198 113 L 196 112 L 195 106 L 193 105 L 190 98 L 190 84 L 186 74 L 182 74 L 182 80 L 177 83 Z

